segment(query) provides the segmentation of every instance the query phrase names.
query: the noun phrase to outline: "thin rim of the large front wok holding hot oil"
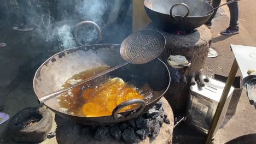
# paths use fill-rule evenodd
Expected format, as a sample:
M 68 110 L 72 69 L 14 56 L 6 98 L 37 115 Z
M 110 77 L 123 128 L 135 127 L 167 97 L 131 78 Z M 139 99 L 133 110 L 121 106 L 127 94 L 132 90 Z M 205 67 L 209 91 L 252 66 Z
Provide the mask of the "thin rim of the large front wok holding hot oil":
M 70 49 L 67 49 L 67 50 L 58 52 L 58 53 L 56 53 L 55 55 L 51 56 L 50 58 L 46 59 L 46 61 L 44 61 L 44 62 L 40 65 L 40 67 L 37 69 L 37 71 L 36 71 L 36 73 L 35 73 L 35 75 L 34 75 L 34 79 L 33 79 L 33 89 L 35 89 L 35 83 L 34 83 L 35 81 L 34 81 L 34 80 L 36 79 L 36 74 L 38 74 L 38 71 L 43 67 L 43 65 L 45 64 L 45 62 L 49 62 L 50 59 L 52 59 L 52 58 L 55 57 L 56 55 L 59 55 L 60 53 L 63 53 L 63 52 L 69 51 L 69 50 L 79 49 L 80 47 L 87 47 L 87 46 L 93 46 L 93 45 L 121 46 L 120 44 L 92 44 L 92 45 L 86 45 L 86 46 L 72 47 L 72 48 L 70 48 Z M 169 83 L 168 83 L 168 86 L 166 87 L 165 91 L 164 91 L 158 98 L 156 98 L 156 100 L 158 100 L 158 99 L 160 99 L 161 97 L 163 97 L 163 96 L 165 95 L 165 93 L 168 91 L 168 89 L 169 89 L 169 87 L 170 87 L 170 85 L 171 85 L 171 74 L 170 74 L 170 71 L 169 71 L 167 65 L 166 65 L 163 61 L 161 61 L 161 59 L 159 59 L 159 58 L 157 58 L 157 59 L 158 59 L 158 61 L 160 61 L 162 64 L 164 64 L 166 70 L 168 71 Z M 155 59 L 154 59 L 154 60 L 155 60 Z M 153 60 L 153 61 L 154 61 L 154 60 Z M 35 93 L 36 96 L 37 96 L 37 92 L 34 91 L 34 93 Z M 38 99 L 38 96 L 37 96 L 37 99 Z M 156 100 L 154 100 L 154 101 L 156 101 Z M 154 101 L 151 101 L 150 103 L 147 103 L 146 106 L 152 104 Z M 52 110 L 52 111 L 57 111 L 57 110 L 51 108 L 50 106 L 46 105 L 45 103 L 43 103 L 43 104 L 44 104 L 46 107 L 48 107 L 50 110 Z M 129 110 L 129 111 L 133 111 L 133 110 L 136 110 L 136 109 L 132 109 L 132 110 Z M 129 111 L 125 111 L 125 112 L 129 112 Z M 63 114 L 65 114 L 65 115 L 69 115 L 69 113 L 64 113 L 64 112 L 61 112 L 61 111 L 58 111 L 58 112 L 63 113 Z M 56 112 L 54 112 L 54 113 L 56 113 Z M 123 112 L 121 112 L 121 113 L 123 113 Z M 77 115 L 69 115 L 69 116 L 72 116 L 72 117 L 80 117 L 80 118 L 97 118 L 97 117 L 84 117 L 84 116 L 77 116 Z M 109 115 L 109 116 L 101 116 L 101 117 L 113 117 L 113 116 L 112 116 L 112 115 Z

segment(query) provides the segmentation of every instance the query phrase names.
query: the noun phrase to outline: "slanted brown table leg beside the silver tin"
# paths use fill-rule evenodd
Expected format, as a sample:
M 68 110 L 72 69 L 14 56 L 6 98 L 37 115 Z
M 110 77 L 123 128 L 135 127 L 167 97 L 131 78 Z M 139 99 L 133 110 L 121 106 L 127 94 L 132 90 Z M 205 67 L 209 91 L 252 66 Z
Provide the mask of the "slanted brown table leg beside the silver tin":
M 228 94 L 229 94 L 229 91 L 230 91 L 230 88 L 231 88 L 231 86 L 232 86 L 232 84 L 235 80 L 237 70 L 238 70 L 238 64 L 237 64 L 236 59 L 235 59 L 233 64 L 232 64 L 231 70 L 229 72 L 228 80 L 226 80 L 226 85 L 223 89 L 222 97 L 219 100 L 219 104 L 217 106 L 215 115 L 212 119 L 211 127 L 208 131 L 208 134 L 207 134 L 206 144 L 211 143 L 213 133 L 216 129 L 217 123 L 219 121 L 220 114 L 222 113 L 223 107 L 224 107 L 225 102 L 226 102 L 226 98 L 228 97 Z

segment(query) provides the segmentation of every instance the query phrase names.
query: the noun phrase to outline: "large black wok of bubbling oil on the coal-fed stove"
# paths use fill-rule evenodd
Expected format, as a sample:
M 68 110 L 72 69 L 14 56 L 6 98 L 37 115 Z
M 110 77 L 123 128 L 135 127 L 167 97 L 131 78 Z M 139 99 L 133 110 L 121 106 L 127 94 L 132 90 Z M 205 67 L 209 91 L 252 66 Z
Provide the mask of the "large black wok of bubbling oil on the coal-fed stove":
M 91 69 L 94 67 L 109 65 L 114 67 L 124 60 L 120 56 L 120 45 L 115 44 L 97 44 L 82 47 L 75 47 L 57 53 L 45 61 L 37 70 L 33 80 L 34 92 L 40 98 L 45 94 L 61 89 L 63 83 L 74 74 Z M 57 103 L 58 98 L 46 101 L 44 104 L 53 110 L 57 115 L 70 119 L 77 123 L 86 125 L 104 125 L 126 121 L 138 117 L 152 107 L 167 91 L 170 85 L 170 73 L 160 59 L 155 59 L 146 64 L 127 64 L 117 70 L 109 73 L 111 77 L 120 77 L 126 82 L 141 87 L 148 83 L 153 89 L 153 98 L 144 105 L 143 100 L 132 99 L 117 106 L 112 116 L 103 117 L 80 117 L 68 115 L 62 111 Z M 100 77 L 98 78 L 100 79 Z M 123 112 L 118 114 L 121 106 L 129 104 L 140 104 L 141 107 L 135 113 Z

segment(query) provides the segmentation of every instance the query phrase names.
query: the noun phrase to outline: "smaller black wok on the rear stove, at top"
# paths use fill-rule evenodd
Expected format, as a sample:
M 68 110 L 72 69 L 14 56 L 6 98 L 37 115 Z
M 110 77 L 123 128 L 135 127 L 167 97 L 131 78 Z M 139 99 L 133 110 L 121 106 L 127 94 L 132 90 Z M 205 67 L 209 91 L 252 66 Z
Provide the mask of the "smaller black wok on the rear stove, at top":
M 144 8 L 153 23 L 165 31 L 193 31 L 213 14 L 206 13 L 213 7 L 199 0 L 146 0 Z

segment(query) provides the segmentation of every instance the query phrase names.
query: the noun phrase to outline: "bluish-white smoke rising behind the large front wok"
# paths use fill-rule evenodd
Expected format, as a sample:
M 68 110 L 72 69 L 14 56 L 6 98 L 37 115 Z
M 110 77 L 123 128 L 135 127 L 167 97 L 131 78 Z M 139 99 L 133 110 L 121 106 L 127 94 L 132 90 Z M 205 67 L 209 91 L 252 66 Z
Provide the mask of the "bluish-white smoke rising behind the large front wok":
M 77 23 L 58 23 L 66 20 L 90 20 L 103 27 L 103 15 L 108 8 L 108 1 L 104 0 L 73 0 L 73 1 L 17 1 L 17 6 L 11 13 L 16 15 L 16 19 L 10 17 L 14 26 L 26 23 L 34 27 L 38 37 L 46 42 L 58 40 L 60 47 L 69 49 L 76 46 L 73 36 L 73 28 Z M 54 9 L 54 10 L 53 10 Z M 54 13 L 57 13 L 55 15 Z M 60 18 L 59 20 L 56 20 Z M 77 21 L 79 22 L 79 21 Z M 88 45 L 97 40 L 97 31 L 92 26 L 82 26 L 79 29 L 78 38 L 83 44 Z M 56 51 L 57 52 L 57 51 Z

